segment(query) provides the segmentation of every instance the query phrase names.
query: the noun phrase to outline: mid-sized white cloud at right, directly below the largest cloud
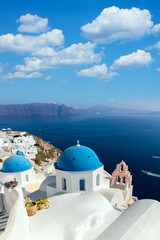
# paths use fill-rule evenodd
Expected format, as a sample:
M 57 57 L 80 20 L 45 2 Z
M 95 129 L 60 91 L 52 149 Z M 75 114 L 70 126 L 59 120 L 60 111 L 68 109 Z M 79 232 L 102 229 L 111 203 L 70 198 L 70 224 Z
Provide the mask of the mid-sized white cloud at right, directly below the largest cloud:
M 149 52 L 138 49 L 137 52 L 133 52 L 132 54 L 121 56 L 119 59 L 116 59 L 110 69 L 133 69 L 148 66 L 152 61 L 153 59 Z

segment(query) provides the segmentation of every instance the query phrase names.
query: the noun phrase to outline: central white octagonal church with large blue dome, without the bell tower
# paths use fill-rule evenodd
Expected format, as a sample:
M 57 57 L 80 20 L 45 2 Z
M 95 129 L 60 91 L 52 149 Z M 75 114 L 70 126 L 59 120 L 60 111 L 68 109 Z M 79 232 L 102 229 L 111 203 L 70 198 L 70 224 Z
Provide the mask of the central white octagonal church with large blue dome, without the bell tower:
M 58 190 L 81 192 L 103 187 L 103 164 L 92 149 L 81 146 L 79 141 L 62 152 L 55 168 Z

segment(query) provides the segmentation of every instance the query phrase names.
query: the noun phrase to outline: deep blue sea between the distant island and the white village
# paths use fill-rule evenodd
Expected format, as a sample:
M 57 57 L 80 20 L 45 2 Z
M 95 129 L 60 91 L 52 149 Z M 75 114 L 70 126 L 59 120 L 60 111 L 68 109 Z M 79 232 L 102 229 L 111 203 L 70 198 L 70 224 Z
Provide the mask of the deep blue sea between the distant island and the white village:
M 133 175 L 134 196 L 160 201 L 160 116 L 103 118 L 0 118 L 1 128 L 27 131 L 64 150 L 76 144 L 92 148 L 112 173 L 124 160 Z M 41 130 L 41 131 L 39 131 Z M 148 176 L 141 172 L 151 172 Z

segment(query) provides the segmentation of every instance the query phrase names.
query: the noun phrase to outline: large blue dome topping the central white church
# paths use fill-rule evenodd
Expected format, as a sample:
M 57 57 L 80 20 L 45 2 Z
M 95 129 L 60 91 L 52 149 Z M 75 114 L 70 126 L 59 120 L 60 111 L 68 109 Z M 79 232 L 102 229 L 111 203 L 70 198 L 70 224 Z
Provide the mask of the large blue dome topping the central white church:
M 69 172 L 93 171 L 103 164 L 99 161 L 95 152 L 85 146 L 73 146 L 62 152 L 56 168 Z

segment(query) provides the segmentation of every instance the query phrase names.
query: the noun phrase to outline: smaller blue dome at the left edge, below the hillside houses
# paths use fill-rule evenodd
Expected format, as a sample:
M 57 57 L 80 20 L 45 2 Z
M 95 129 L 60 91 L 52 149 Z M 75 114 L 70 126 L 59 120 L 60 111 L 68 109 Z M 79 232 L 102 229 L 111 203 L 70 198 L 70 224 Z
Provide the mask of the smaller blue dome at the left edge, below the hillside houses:
M 18 151 L 16 155 L 7 158 L 2 166 L 2 172 L 23 172 L 29 170 L 32 167 L 29 160 L 22 155 L 22 152 Z

